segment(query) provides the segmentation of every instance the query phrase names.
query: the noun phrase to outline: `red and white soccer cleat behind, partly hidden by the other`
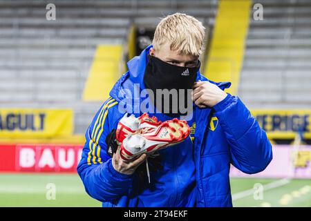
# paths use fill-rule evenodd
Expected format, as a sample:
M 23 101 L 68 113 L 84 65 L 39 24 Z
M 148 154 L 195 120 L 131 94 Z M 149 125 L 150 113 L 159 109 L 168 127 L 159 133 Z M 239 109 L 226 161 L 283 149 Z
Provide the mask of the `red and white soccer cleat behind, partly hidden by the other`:
M 117 131 L 115 132 L 115 138 L 118 144 L 121 144 L 122 141 L 129 135 L 134 133 L 143 133 L 151 131 L 156 128 L 162 122 L 158 122 L 157 117 L 149 117 L 147 113 L 142 114 L 140 117 L 135 117 L 135 115 L 125 115 L 120 119 L 120 122 L 117 124 Z

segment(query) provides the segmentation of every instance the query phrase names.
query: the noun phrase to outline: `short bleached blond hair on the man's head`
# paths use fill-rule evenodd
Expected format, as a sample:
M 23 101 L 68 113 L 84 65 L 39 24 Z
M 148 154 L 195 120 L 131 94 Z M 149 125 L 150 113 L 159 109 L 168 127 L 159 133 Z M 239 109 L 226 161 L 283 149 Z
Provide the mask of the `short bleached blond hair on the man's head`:
M 153 37 L 153 48 L 157 50 L 169 42 L 170 49 L 181 55 L 199 56 L 202 53 L 205 28 L 198 19 L 175 13 L 158 23 Z

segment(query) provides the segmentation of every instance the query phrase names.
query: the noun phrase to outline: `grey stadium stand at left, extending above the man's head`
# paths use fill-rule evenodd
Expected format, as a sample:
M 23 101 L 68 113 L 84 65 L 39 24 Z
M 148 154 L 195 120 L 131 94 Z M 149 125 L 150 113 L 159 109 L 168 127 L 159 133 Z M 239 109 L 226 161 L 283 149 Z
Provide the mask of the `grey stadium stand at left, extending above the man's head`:
M 57 0 L 55 21 L 45 19 L 47 3 L 0 1 L 1 107 L 73 108 L 83 134 L 102 104 L 82 101 L 97 45 L 125 45 L 131 23 L 155 27 L 177 11 L 210 26 L 218 1 Z

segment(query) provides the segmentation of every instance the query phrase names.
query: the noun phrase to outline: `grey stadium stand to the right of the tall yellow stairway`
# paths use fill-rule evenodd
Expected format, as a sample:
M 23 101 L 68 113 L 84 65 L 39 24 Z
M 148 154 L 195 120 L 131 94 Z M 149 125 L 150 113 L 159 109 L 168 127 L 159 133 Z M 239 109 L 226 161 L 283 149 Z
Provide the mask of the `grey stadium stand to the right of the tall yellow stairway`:
M 310 108 L 311 2 L 254 1 L 238 95 L 249 108 Z

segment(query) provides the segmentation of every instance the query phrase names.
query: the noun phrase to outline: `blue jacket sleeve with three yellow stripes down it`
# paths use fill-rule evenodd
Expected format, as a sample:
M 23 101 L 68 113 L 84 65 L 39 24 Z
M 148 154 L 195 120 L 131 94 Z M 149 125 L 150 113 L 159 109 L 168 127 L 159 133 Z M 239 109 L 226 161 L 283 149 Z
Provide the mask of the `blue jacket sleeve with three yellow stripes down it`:
M 106 135 L 117 124 L 113 118 L 117 102 L 111 97 L 106 100 L 86 131 L 86 142 L 77 172 L 88 195 L 101 202 L 113 201 L 127 195 L 132 175 L 115 171 L 111 157 L 106 153 Z

